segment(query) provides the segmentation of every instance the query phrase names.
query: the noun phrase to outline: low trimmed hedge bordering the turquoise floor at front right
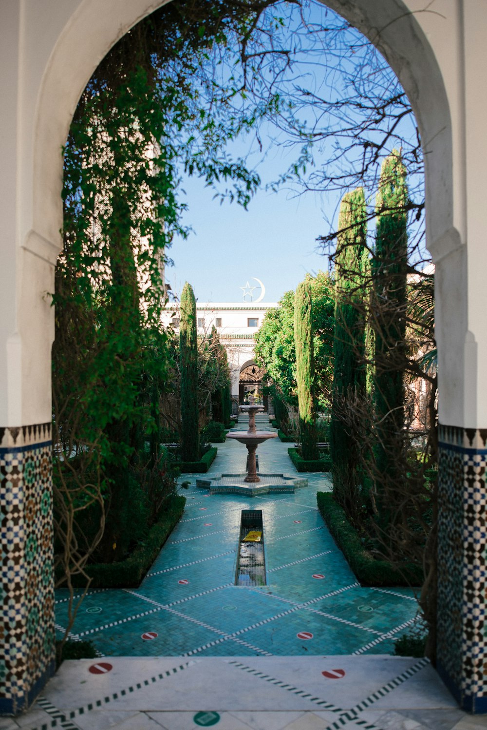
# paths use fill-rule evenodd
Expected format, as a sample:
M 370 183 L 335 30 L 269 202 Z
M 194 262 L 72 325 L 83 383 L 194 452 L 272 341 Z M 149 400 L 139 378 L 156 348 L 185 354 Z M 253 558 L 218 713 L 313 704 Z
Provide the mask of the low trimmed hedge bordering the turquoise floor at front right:
M 331 492 L 317 492 L 319 512 L 327 523 L 338 548 L 362 585 L 421 585 L 423 571 L 412 563 L 401 569 L 385 560 L 375 560 L 362 545 L 357 531 L 346 518 L 342 507 L 335 502 Z

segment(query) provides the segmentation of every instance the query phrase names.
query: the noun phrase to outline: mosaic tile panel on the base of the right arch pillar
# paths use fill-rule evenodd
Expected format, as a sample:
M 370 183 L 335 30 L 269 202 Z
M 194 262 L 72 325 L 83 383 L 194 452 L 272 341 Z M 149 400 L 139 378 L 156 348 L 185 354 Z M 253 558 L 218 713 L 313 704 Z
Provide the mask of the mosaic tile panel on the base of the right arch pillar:
M 440 426 L 440 673 L 461 705 L 487 703 L 487 431 Z

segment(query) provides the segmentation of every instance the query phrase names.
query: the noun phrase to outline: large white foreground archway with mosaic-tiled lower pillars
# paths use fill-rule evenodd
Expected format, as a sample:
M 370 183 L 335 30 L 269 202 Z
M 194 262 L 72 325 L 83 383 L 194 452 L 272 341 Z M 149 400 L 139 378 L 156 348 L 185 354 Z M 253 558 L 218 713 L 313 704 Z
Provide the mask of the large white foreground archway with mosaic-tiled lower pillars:
M 0 710 L 7 714 L 26 707 L 53 671 L 46 468 L 53 312 L 46 293 L 53 291 L 61 248 L 59 150 L 77 99 L 98 62 L 122 34 L 161 4 L 106 0 L 103 14 L 96 0 L 69 5 L 49 0 L 42 12 L 36 4 L 20 8 L 15 1 L 2 7 L 1 150 L 7 180 L 0 198 L 2 595 L 4 616 L 13 618 L 4 636 Z M 482 307 L 486 253 L 483 220 L 475 211 L 482 206 L 486 141 L 481 125 L 484 102 L 471 89 L 476 69 L 485 63 L 487 9 L 451 3 L 440 18 L 413 0 L 328 4 L 386 56 L 421 129 L 428 246 L 437 267 L 440 353 L 438 665 L 464 706 L 482 711 L 487 707 L 487 398 L 482 377 L 487 366 Z M 41 579 L 28 593 L 26 583 L 34 572 Z

